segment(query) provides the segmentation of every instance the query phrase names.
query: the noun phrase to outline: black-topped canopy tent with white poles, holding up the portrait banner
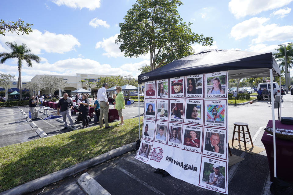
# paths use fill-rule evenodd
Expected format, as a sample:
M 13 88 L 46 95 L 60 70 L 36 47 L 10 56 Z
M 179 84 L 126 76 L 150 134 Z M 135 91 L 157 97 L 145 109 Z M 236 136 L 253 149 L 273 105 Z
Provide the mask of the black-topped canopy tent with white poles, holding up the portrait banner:
M 271 97 L 273 97 L 273 76 L 281 76 L 281 70 L 271 52 L 255 53 L 248 51 L 211 49 L 175 60 L 165 66 L 138 76 L 138 83 L 168 79 L 176 76 L 229 71 L 228 79 L 270 76 Z M 281 81 L 281 78 L 280 78 Z M 139 86 L 139 85 L 138 85 Z M 139 90 L 139 87 L 138 87 Z M 139 96 L 138 96 L 139 102 Z M 281 103 L 281 98 L 280 98 Z M 140 106 L 139 106 L 140 107 Z M 139 113 L 140 115 L 140 113 Z M 272 98 L 274 176 L 276 172 L 276 136 L 274 100 Z M 140 129 L 140 121 L 139 121 Z M 139 131 L 140 139 L 140 131 Z

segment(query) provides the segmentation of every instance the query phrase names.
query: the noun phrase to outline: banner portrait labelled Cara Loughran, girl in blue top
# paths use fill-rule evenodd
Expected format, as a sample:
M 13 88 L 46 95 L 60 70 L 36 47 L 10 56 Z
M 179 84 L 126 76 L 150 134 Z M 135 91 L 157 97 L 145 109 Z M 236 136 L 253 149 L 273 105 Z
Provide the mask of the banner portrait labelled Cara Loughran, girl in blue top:
M 205 75 L 205 97 L 225 98 L 227 97 L 226 71 L 209 73 Z

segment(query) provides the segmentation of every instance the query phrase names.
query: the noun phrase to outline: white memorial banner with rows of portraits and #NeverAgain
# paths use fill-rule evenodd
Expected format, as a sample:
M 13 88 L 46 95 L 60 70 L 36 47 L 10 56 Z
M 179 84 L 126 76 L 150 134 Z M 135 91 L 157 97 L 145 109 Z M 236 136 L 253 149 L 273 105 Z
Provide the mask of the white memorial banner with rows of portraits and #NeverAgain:
M 228 72 L 145 82 L 136 159 L 188 183 L 228 194 Z

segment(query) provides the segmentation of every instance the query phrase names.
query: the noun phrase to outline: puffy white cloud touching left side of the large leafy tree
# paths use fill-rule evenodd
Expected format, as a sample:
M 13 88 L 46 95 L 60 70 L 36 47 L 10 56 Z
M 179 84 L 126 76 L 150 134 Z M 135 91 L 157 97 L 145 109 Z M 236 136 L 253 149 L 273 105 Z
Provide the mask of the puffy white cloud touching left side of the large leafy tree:
M 124 52 L 121 52 L 119 49 L 120 44 L 115 44 L 115 40 L 117 39 L 118 34 L 115 34 L 112 37 L 109 37 L 107 39 L 103 38 L 103 41 L 99 41 L 96 43 L 96 49 L 103 48 L 105 53 L 103 55 L 106 55 L 107 57 L 123 57 Z M 150 54 L 147 55 L 140 55 L 138 58 L 141 59 L 150 59 Z

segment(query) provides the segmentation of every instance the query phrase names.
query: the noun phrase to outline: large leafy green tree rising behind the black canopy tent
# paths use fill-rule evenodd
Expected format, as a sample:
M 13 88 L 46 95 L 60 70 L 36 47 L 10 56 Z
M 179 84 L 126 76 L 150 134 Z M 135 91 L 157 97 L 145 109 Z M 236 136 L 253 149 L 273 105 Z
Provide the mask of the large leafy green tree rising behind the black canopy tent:
M 193 33 L 192 23 L 183 22 L 177 11 L 180 5 L 180 0 L 137 0 L 119 24 L 115 41 L 125 57 L 148 54 L 154 70 L 193 54 L 191 44 L 212 45 L 212 37 Z

